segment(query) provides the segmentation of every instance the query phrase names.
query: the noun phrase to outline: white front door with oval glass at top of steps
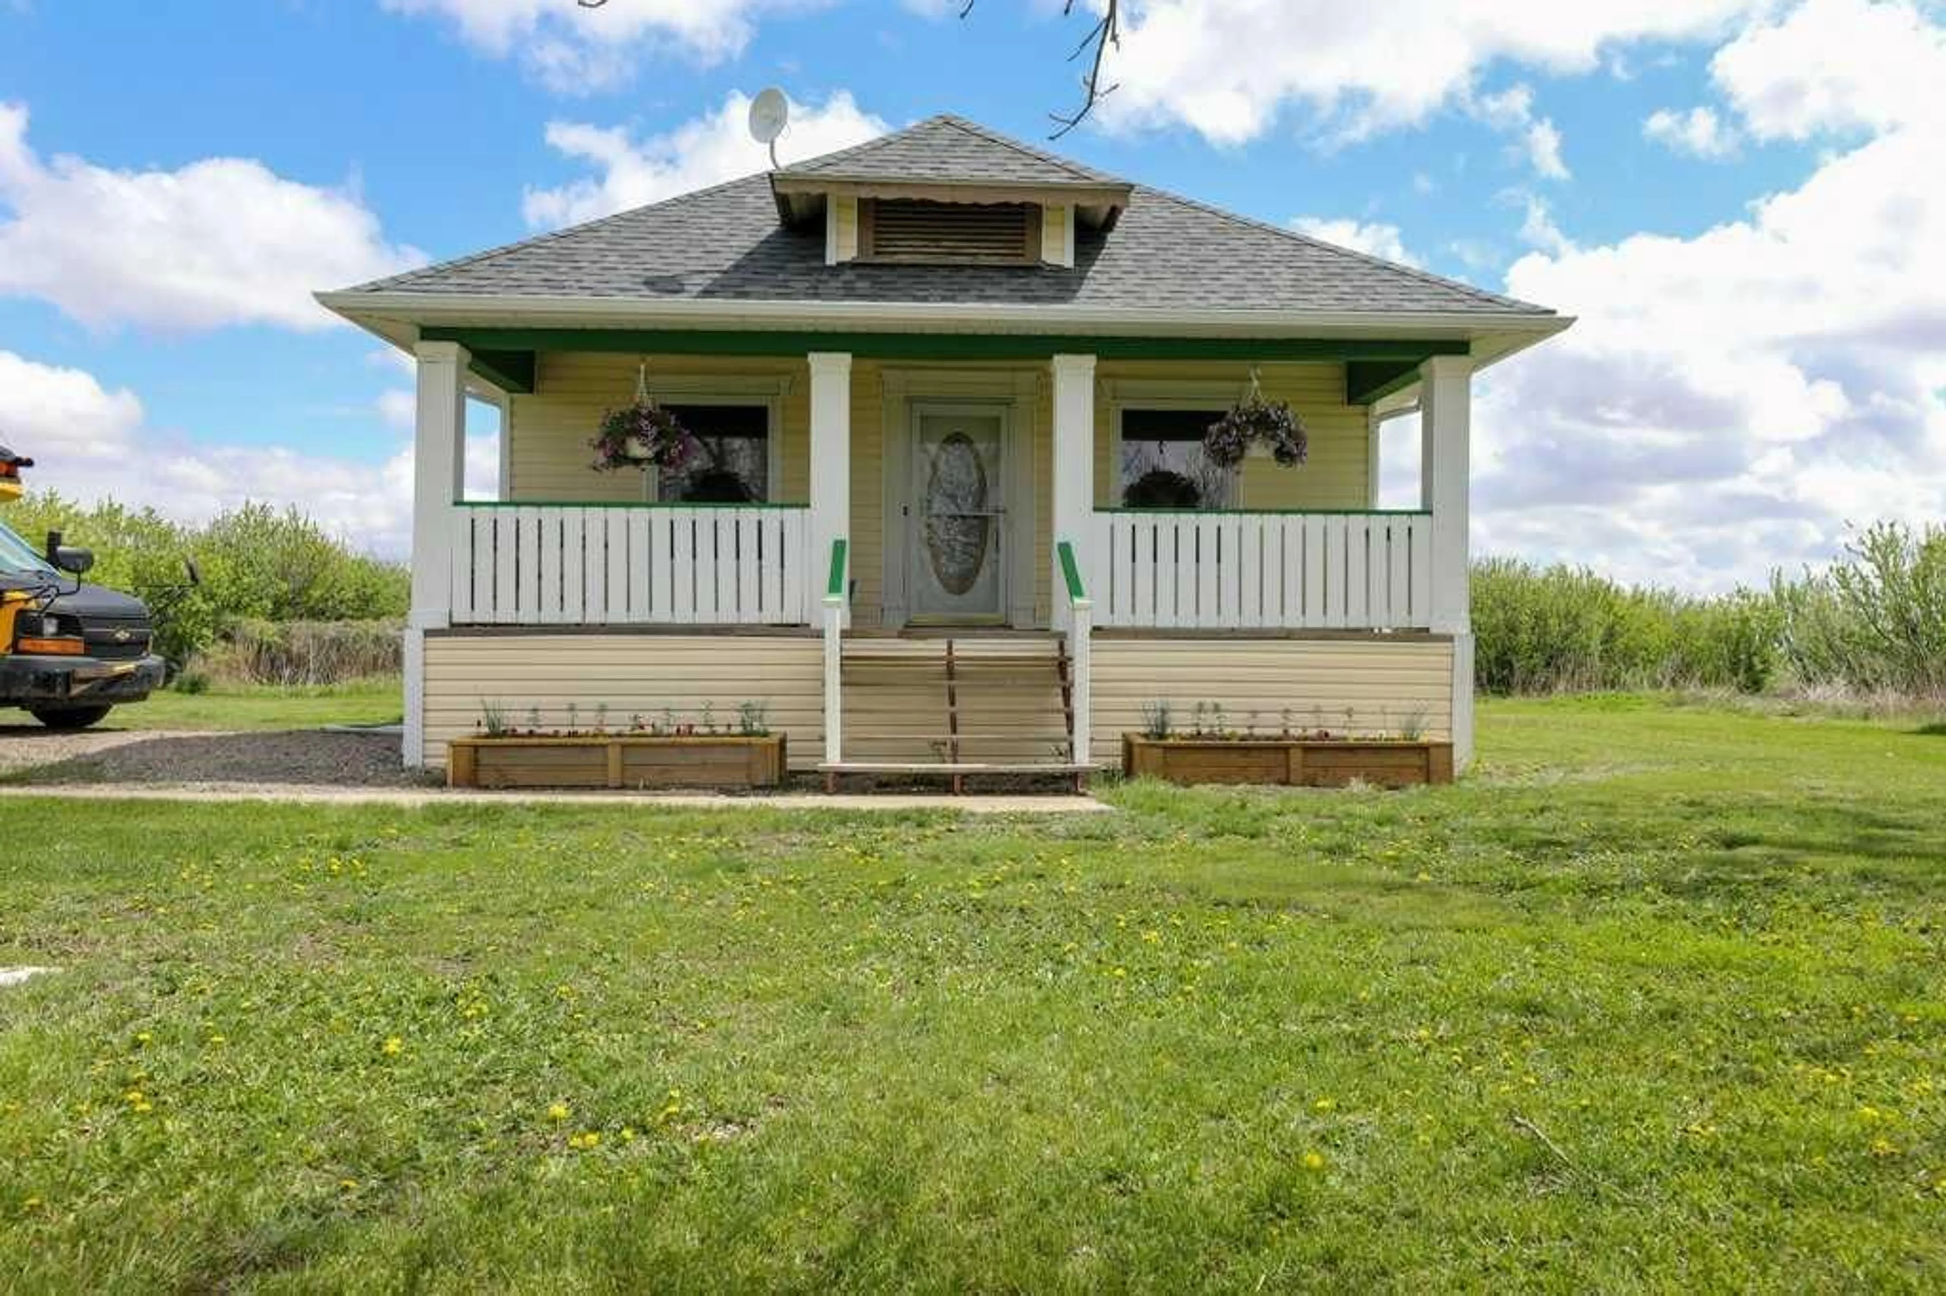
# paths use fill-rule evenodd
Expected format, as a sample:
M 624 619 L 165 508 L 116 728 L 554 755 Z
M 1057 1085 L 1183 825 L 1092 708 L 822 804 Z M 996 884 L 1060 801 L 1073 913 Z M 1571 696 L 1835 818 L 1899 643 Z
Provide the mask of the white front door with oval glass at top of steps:
M 917 405 L 905 572 L 915 621 L 1006 617 L 1006 414 Z

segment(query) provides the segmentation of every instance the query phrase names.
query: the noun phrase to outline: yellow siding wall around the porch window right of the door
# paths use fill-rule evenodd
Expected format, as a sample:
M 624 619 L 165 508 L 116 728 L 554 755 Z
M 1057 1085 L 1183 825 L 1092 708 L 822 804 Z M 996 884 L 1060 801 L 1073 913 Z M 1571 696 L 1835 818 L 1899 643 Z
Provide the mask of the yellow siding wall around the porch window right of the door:
M 1271 401 L 1290 401 L 1310 432 L 1310 461 L 1284 469 L 1271 459 L 1243 461 L 1243 498 L 1238 508 L 1368 508 L 1370 428 L 1364 405 L 1345 405 L 1345 366 L 1337 362 L 1267 362 L 1259 383 Z M 1226 362 L 1103 360 L 1096 378 L 1109 381 L 1234 383 L 1249 379 L 1249 366 Z M 1131 401 L 1140 405 L 1140 401 Z M 1096 397 L 1096 502 L 1117 504 L 1113 461 L 1113 401 Z

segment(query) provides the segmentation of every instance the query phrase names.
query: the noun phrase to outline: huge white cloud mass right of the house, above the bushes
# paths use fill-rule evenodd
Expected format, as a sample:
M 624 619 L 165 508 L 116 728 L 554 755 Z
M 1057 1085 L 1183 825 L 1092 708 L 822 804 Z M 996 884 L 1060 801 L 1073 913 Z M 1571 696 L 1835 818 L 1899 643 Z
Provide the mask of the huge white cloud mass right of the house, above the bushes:
M 1940 29 L 1903 18 L 1897 4 L 1812 0 L 1732 41 L 1716 68 L 1748 78 L 1730 51 L 1749 41 L 1775 58 L 1767 84 L 1860 88 L 1874 68 L 1905 76 L 1921 49 L 1946 86 Z M 1753 105 L 1753 130 L 1876 121 L 1878 134 L 1695 237 L 1584 247 L 1530 208 L 1530 237 L 1549 247 L 1512 267 L 1508 290 L 1580 323 L 1481 381 L 1483 549 L 1722 588 L 1827 558 L 1847 522 L 1938 520 L 1946 121 L 1903 95 L 1864 107 L 1843 93 L 1765 117 L 1769 95 L 1726 91 Z

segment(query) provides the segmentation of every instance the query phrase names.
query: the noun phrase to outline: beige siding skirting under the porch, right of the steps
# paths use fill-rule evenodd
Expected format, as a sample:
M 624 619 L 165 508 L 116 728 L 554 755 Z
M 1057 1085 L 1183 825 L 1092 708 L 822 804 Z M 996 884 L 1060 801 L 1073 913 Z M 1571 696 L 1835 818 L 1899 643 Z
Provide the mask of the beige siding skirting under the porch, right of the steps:
M 1452 738 L 1452 642 L 1442 638 L 1094 638 L 1094 757 L 1121 765 L 1121 736 L 1168 701 L 1177 730 L 1197 702 L 1222 724 L 1271 734 L 1327 728 Z

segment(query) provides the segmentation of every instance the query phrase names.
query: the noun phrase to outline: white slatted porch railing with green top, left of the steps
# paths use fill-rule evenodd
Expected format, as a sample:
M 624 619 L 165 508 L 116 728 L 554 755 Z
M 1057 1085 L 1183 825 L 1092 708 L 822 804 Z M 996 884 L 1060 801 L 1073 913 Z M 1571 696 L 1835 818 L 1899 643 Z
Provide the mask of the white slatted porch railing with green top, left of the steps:
M 806 510 L 453 504 L 453 625 L 808 625 Z

